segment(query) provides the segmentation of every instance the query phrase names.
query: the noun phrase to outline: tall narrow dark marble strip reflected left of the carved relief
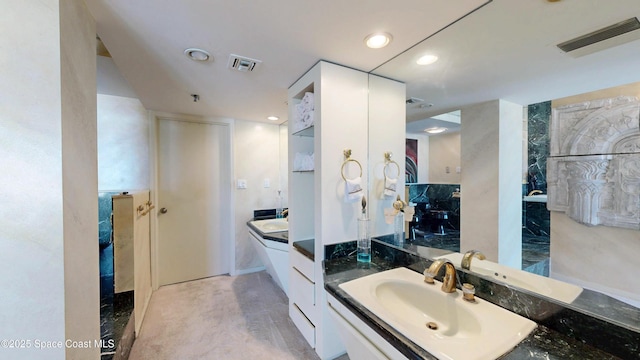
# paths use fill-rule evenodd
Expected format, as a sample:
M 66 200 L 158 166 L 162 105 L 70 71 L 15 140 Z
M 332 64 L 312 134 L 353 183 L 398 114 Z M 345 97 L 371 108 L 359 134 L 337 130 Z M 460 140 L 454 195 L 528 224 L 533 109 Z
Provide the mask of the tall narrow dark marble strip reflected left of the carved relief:
M 549 122 L 551 101 L 528 106 L 528 174 L 527 193 L 547 193 L 547 157 L 549 156 Z

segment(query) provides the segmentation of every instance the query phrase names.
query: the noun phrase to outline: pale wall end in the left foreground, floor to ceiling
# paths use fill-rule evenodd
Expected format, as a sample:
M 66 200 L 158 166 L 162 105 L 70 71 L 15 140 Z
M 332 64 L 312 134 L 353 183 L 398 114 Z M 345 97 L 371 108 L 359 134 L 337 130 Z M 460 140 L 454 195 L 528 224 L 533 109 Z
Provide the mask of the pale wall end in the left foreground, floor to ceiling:
M 95 23 L 83 2 L 10 0 L 0 31 L 0 338 L 31 341 L 0 357 L 98 359 L 35 348 L 100 338 Z

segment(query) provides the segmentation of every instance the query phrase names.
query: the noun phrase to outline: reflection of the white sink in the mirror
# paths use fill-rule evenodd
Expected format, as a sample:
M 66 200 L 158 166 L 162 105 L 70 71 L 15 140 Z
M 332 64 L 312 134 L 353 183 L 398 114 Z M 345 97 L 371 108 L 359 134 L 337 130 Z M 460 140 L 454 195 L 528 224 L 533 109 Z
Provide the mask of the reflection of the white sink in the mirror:
M 462 262 L 463 256 L 464 255 L 460 253 L 451 253 L 441 256 L 440 258 L 449 259 L 458 267 Z M 500 265 L 489 260 L 472 259 L 470 270 L 478 275 L 491 277 L 502 283 L 535 292 L 565 303 L 571 303 L 582 292 L 582 288 L 579 286 Z

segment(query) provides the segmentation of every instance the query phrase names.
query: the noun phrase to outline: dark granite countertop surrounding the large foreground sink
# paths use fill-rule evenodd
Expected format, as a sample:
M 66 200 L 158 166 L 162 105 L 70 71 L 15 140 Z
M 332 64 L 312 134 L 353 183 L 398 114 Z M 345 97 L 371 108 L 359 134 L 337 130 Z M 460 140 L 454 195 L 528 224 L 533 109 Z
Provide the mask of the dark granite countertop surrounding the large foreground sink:
M 387 244 L 379 241 L 372 242 L 372 252 L 373 256 L 370 264 L 358 263 L 356 261 L 355 255 L 325 260 L 325 289 L 329 292 L 329 294 L 338 299 L 338 301 L 340 301 L 345 307 L 356 314 L 358 318 L 367 323 L 374 331 L 376 331 L 380 336 L 386 339 L 390 344 L 392 344 L 396 349 L 398 349 L 408 358 L 436 359 L 433 355 L 429 354 L 427 351 L 396 331 L 393 327 L 387 325 L 384 321 L 375 316 L 368 309 L 360 305 L 360 303 L 351 298 L 339 287 L 341 283 L 347 282 L 349 280 L 400 266 L 404 266 L 421 273 L 426 267 L 431 264 L 431 261 L 428 259 L 424 259 L 419 256 L 394 249 L 392 246 L 388 246 Z M 462 273 L 461 275 L 464 277 L 463 279 L 461 279 L 462 281 L 469 281 L 472 283 L 478 283 L 479 281 L 477 278 L 474 279 L 474 276 L 472 274 Z M 478 286 L 480 286 L 480 284 L 478 284 Z M 478 295 L 482 295 L 483 290 L 488 291 L 486 287 L 486 285 L 484 286 L 484 289 L 483 287 L 480 287 L 480 294 Z M 498 295 L 503 295 L 500 294 L 501 289 L 499 287 L 495 289 L 492 288 L 489 291 L 493 292 L 494 290 L 498 292 Z M 510 298 L 510 300 L 514 300 L 513 295 L 511 296 L 512 297 Z M 521 299 L 515 299 L 515 301 L 520 300 Z M 538 306 L 542 307 L 540 305 Z M 545 308 L 544 310 L 549 311 L 548 308 Z M 549 314 L 546 315 L 549 316 Z M 551 315 L 551 317 L 553 316 Z M 538 322 L 538 326 L 531 332 L 531 334 L 529 334 L 529 336 L 527 336 L 513 350 L 500 357 L 500 359 L 602 360 L 618 359 L 618 357 L 604 352 L 598 348 L 589 346 L 584 341 L 579 341 L 576 338 L 566 336 Z

